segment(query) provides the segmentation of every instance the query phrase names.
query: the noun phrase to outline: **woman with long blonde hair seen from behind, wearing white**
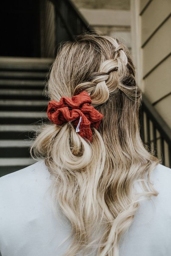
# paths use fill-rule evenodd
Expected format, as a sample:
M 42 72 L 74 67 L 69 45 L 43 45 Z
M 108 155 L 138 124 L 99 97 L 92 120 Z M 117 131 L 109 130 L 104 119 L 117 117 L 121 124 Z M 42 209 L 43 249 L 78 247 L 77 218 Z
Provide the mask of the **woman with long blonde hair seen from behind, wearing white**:
M 47 92 L 39 161 L 0 179 L 2 256 L 171 255 L 171 172 L 140 139 L 127 48 L 93 34 L 65 43 Z

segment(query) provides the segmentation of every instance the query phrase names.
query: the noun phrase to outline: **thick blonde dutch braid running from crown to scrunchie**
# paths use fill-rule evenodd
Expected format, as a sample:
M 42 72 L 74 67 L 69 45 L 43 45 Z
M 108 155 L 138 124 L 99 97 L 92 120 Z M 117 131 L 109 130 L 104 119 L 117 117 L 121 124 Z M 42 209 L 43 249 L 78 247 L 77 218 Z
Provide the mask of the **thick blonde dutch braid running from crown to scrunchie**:
M 131 76 L 127 77 L 127 83 L 124 84 L 123 79 L 126 78 L 127 74 L 127 57 L 123 50 L 123 46 L 119 45 L 117 40 L 114 38 L 106 37 L 110 42 L 112 42 L 115 47 L 114 58 L 105 60 L 101 63 L 98 72 L 93 72 L 87 82 L 78 84 L 75 87 L 74 95 L 80 93 L 82 90 L 87 91 L 91 94 L 92 105 L 97 106 L 105 103 L 109 99 L 110 94 L 114 94 L 119 89 L 125 94 L 129 94 L 130 90 L 135 89 L 135 78 L 134 88 L 130 87 L 129 79 Z M 131 84 L 132 83 L 131 80 Z M 127 86 L 129 85 L 129 88 Z

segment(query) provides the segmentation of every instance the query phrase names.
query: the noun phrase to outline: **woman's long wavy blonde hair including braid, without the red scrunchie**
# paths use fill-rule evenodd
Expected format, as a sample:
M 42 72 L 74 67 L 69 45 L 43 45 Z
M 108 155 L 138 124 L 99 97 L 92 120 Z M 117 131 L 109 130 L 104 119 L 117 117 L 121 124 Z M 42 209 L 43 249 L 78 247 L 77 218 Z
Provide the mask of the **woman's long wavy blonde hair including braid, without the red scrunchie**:
M 131 225 L 141 196 L 158 193 L 150 173 L 159 160 L 139 135 L 141 91 L 129 51 L 117 39 L 83 34 L 66 42 L 52 65 L 47 92 L 51 100 L 90 94 L 104 115 L 89 143 L 72 123 L 43 125 L 31 148 L 55 177 L 55 199 L 72 226 L 64 255 L 118 256 L 119 240 Z M 143 193 L 135 189 L 139 182 Z

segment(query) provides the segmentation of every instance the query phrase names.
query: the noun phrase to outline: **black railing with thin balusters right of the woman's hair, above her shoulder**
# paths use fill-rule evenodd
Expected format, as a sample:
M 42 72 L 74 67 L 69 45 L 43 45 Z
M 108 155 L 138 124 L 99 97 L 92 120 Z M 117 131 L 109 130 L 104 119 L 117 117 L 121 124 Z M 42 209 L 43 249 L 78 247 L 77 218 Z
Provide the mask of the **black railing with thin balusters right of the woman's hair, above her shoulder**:
M 146 148 L 162 159 L 163 165 L 171 167 L 171 130 L 144 95 L 139 117 Z

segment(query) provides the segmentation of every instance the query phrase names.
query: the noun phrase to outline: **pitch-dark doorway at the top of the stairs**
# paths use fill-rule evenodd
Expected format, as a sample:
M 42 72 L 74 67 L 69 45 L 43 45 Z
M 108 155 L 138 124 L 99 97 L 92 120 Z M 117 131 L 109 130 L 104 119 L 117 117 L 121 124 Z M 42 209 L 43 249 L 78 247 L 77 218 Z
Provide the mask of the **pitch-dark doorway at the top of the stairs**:
M 40 57 L 39 0 L 2 1 L 0 56 Z

